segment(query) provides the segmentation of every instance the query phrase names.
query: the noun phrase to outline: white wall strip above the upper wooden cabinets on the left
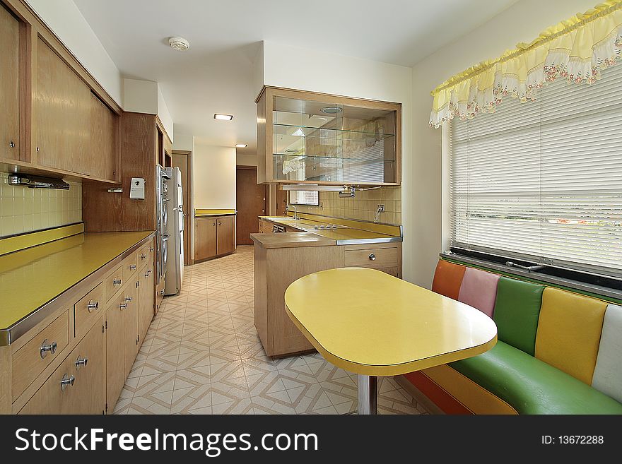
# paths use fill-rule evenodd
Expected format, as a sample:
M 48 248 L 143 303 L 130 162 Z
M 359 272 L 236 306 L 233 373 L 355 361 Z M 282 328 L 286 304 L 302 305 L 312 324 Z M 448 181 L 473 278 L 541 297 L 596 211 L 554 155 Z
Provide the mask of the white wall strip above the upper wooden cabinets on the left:
M 119 69 L 71 0 L 27 0 L 33 10 L 102 85 L 119 106 L 122 83 Z

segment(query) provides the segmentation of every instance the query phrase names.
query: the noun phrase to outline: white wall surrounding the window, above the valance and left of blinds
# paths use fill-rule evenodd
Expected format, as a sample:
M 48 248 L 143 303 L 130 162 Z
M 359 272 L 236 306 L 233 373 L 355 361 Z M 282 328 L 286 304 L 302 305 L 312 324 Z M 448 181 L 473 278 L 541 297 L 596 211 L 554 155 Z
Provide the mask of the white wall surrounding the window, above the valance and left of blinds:
M 403 207 L 404 215 L 417 218 L 412 242 L 408 248 L 404 247 L 404 263 L 416 263 L 409 280 L 430 287 L 438 253 L 449 246 L 442 130 L 428 126 L 432 108 L 430 91 L 455 73 L 513 49 L 518 42 L 531 42 L 548 26 L 587 11 L 595 3 L 594 0 L 520 0 L 413 67 L 413 162 L 408 170 L 404 169 L 404 183 L 412 186 L 412 201 Z

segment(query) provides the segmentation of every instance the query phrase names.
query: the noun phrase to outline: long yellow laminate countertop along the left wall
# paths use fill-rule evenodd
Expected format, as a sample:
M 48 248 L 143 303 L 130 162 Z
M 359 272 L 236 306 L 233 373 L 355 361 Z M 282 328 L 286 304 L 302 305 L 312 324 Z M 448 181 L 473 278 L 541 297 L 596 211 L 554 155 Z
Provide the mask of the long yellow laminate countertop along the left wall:
M 88 232 L 0 256 L 0 330 L 10 328 L 153 232 Z

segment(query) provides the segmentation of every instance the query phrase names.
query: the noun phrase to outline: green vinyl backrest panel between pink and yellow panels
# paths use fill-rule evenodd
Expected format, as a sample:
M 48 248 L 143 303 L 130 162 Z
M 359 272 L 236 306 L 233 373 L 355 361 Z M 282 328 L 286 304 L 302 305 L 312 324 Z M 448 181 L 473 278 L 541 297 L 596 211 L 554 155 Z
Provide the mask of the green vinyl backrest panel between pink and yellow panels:
M 502 277 L 497 284 L 493 319 L 498 338 L 534 355 L 544 285 Z

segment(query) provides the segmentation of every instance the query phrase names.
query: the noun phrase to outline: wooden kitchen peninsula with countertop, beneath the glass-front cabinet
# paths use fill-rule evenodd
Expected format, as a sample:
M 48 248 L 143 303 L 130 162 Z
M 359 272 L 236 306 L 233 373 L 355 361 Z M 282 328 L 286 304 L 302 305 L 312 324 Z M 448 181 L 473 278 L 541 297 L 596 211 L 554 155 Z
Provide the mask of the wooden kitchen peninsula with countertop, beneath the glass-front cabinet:
M 261 217 L 260 231 L 280 225 L 287 232 L 251 234 L 255 327 L 271 357 L 314 350 L 286 314 L 285 290 L 294 280 L 344 267 L 374 268 L 401 278 L 401 226 L 298 216 Z

